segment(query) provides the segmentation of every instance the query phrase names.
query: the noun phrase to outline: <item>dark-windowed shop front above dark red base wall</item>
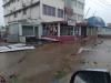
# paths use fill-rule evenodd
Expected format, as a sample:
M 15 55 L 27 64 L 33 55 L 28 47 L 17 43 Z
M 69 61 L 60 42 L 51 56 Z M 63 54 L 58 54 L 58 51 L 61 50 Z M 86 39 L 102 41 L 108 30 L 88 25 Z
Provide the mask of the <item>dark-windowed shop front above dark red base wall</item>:
M 60 41 L 74 40 L 74 27 L 68 25 L 68 23 L 63 21 L 43 22 L 42 32 L 42 37 L 58 39 Z

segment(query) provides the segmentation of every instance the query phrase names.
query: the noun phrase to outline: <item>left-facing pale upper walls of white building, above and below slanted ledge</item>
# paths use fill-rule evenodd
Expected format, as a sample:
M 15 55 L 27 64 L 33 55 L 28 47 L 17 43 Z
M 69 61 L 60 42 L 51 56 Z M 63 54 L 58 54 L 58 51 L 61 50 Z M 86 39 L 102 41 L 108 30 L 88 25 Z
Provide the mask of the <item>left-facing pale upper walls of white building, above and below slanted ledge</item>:
M 6 7 L 4 8 L 4 14 L 9 14 L 12 11 L 16 11 L 16 10 L 19 10 L 19 9 L 22 9 L 22 3 L 27 6 L 30 6 L 31 3 L 34 3 L 34 2 L 38 2 L 39 0 L 19 0 L 19 1 L 16 1 L 14 3 L 11 3 L 9 7 Z M 39 18 L 39 4 L 33 7 L 33 8 L 29 8 L 27 10 L 27 14 L 23 14 L 23 12 L 18 12 L 17 13 L 17 18 L 14 18 L 14 14 L 11 14 L 11 15 L 8 15 L 8 17 L 4 17 L 4 22 L 6 22 L 6 25 L 8 24 L 8 22 L 12 22 L 12 21 L 18 21 L 18 20 L 24 20 L 24 19 L 28 19 L 28 18 L 31 18 L 31 19 L 38 19 Z

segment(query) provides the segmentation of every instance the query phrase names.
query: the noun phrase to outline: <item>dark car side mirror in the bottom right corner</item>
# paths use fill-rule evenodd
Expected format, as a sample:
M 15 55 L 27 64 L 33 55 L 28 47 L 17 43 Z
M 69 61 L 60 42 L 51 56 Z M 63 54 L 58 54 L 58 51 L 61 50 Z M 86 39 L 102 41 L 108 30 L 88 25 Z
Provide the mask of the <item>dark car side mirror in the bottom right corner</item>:
M 110 83 L 111 75 L 108 70 L 84 69 L 77 71 L 70 80 L 70 83 Z

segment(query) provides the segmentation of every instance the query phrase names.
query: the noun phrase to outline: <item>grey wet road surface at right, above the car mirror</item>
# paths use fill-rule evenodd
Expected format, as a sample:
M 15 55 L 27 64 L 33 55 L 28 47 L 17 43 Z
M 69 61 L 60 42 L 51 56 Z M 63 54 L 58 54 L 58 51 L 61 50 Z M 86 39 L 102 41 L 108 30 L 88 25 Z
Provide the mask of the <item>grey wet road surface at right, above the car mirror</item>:
M 80 60 L 84 61 L 81 68 L 100 68 L 111 70 L 111 40 L 103 40 L 94 46 L 85 46 L 90 51 L 81 53 Z

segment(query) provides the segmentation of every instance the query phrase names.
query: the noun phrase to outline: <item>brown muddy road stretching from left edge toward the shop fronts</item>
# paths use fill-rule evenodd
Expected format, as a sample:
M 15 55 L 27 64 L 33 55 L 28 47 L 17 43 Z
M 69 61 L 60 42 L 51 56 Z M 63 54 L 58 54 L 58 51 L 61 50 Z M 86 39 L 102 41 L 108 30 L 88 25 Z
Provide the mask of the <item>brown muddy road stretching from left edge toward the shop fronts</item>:
M 65 56 L 74 52 L 75 45 L 49 43 L 34 50 L 0 53 L 0 75 L 9 79 L 14 74 L 18 83 L 49 83 L 53 74 L 61 70 Z

